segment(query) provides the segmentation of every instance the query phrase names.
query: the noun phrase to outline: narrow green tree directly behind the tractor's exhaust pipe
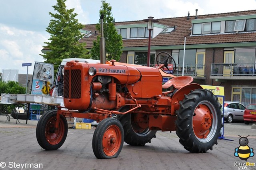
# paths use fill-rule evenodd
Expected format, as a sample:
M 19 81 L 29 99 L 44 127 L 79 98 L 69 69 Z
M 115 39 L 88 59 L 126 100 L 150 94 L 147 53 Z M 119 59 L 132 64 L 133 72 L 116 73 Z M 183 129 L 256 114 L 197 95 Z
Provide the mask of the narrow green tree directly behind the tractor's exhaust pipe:
M 115 59 L 116 61 L 119 61 L 120 56 L 122 55 L 122 36 L 118 35 L 116 32 L 114 18 L 111 13 L 112 7 L 109 6 L 105 0 L 102 0 L 101 8 L 100 16 L 104 16 L 103 34 L 106 41 L 106 60 Z M 100 24 L 96 24 L 96 29 L 100 32 Z M 93 42 L 91 55 L 92 59 L 100 59 L 100 36 Z

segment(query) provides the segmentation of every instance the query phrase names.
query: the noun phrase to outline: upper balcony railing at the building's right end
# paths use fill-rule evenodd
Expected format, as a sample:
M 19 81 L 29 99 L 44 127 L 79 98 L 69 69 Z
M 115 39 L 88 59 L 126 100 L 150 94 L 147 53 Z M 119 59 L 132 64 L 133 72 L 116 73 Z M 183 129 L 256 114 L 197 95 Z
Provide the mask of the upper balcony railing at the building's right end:
M 256 63 L 222 63 L 211 65 L 211 76 L 256 76 Z

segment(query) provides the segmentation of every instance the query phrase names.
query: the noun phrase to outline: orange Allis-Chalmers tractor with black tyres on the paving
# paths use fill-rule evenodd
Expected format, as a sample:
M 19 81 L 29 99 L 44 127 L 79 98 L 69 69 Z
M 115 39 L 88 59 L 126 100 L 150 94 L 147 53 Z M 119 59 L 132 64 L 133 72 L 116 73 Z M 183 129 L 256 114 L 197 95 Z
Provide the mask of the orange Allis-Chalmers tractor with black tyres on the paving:
M 223 127 L 218 98 L 192 83 L 190 76 L 172 76 L 162 85 L 162 74 L 173 73 L 176 64 L 165 52 L 156 60 L 158 68 L 115 60 L 106 64 L 67 62 L 66 109 L 58 106 L 42 115 L 36 128 L 40 146 L 45 150 L 60 148 L 68 133 L 66 117 L 79 117 L 99 122 L 92 148 L 101 159 L 116 158 L 124 142 L 133 146 L 150 143 L 157 130 L 176 131 L 190 152 L 212 150 Z

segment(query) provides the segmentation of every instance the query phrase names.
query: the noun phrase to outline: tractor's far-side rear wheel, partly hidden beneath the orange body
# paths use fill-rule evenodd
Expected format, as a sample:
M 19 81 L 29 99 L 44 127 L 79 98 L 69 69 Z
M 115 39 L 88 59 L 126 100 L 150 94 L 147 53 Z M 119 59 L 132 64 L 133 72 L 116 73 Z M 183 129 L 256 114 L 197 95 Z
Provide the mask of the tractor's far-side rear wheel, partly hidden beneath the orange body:
M 126 112 L 129 109 L 129 106 L 125 106 L 119 111 Z M 138 115 L 138 113 L 126 113 L 125 115 L 117 115 L 116 117 L 124 128 L 124 142 L 129 145 L 144 146 L 146 143 L 150 143 L 152 138 L 156 137 L 156 130 L 149 130 L 148 125 L 142 125 L 139 121 L 136 121 L 138 117 L 142 116 Z

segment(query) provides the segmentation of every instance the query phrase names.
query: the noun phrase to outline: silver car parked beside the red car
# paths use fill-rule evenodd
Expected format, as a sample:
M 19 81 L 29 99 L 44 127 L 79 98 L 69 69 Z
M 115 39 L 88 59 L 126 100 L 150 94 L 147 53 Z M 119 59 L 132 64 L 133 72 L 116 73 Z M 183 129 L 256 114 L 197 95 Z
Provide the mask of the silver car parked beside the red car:
M 226 123 L 234 121 L 244 121 L 245 106 L 234 101 L 225 101 L 224 103 L 224 120 Z

